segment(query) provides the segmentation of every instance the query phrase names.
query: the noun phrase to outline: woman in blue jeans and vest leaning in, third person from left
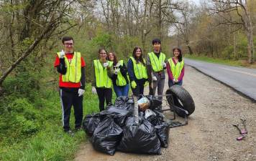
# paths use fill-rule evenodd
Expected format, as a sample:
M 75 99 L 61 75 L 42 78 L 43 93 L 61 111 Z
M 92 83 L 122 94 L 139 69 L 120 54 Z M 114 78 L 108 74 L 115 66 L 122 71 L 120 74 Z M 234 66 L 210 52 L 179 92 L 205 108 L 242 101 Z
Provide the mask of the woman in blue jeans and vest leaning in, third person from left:
M 127 78 L 127 67 L 124 61 L 118 61 L 114 52 L 109 52 L 109 61 L 113 62 L 113 68 L 111 68 L 113 77 L 111 77 L 111 79 L 116 97 L 128 96 L 129 80 Z

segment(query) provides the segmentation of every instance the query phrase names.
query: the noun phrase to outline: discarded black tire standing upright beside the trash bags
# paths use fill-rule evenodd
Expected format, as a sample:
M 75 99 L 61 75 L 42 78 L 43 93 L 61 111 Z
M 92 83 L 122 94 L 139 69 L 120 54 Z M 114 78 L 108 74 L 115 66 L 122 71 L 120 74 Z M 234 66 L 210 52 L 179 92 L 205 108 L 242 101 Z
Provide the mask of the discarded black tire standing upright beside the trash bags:
M 191 97 L 191 94 L 186 91 L 183 87 L 179 85 L 173 85 L 168 89 L 165 94 L 171 94 L 167 95 L 166 99 L 168 103 L 174 104 L 175 106 L 180 107 L 181 109 L 185 109 L 188 111 L 188 114 L 184 113 L 182 110 L 173 108 L 176 114 L 180 117 L 185 117 L 185 115 L 189 116 L 195 111 L 195 103 L 193 102 L 193 99 Z

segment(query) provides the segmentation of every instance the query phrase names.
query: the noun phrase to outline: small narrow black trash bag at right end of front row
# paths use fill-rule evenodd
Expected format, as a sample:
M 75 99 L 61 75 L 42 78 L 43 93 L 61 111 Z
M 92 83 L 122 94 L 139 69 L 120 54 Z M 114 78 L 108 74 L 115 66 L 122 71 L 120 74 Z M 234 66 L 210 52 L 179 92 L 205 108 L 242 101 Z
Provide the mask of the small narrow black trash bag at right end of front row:
M 170 127 L 167 122 L 163 122 L 161 125 L 156 125 L 157 137 L 160 140 L 161 147 L 168 147 L 169 131 Z

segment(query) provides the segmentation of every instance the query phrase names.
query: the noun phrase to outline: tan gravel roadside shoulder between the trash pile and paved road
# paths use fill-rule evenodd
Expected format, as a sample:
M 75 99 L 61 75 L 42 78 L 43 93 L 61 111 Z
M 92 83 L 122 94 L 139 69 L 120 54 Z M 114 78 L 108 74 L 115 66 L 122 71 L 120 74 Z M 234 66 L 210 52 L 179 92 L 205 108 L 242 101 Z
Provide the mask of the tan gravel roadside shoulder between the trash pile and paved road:
M 256 160 L 256 104 L 192 67 L 186 67 L 183 82 L 195 101 L 196 111 L 188 125 L 170 129 L 169 147 L 162 148 L 162 155 L 116 152 L 109 156 L 96 152 L 86 142 L 75 160 Z M 241 117 L 247 119 L 249 134 L 245 140 L 237 141 L 239 134 L 232 124 Z

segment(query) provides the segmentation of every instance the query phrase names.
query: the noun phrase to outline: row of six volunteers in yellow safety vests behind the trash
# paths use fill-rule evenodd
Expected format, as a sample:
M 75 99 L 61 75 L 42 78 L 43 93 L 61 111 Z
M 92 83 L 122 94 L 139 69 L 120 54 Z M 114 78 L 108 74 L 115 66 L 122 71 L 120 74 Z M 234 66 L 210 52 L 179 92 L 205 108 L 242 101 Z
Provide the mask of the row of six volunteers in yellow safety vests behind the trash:
M 86 63 L 80 52 L 74 52 L 74 39 L 64 36 L 64 50 L 58 52 L 55 67 L 60 73 L 60 103 L 62 107 L 63 130 L 71 132 L 69 126 L 70 111 L 73 105 L 75 115 L 75 130 L 81 130 L 83 120 L 83 94 L 85 92 Z M 144 88 L 149 86 L 150 95 L 163 94 L 165 86 L 165 69 L 168 73 L 168 86 L 182 85 L 184 76 L 184 60 L 181 50 L 173 48 L 173 57 L 166 59 L 161 51 L 160 39 L 152 40 L 152 52 L 144 57 L 140 47 L 134 47 L 127 65 L 118 59 L 115 52 L 99 49 L 99 59 L 93 60 L 92 93 L 98 94 L 99 109 L 104 110 L 104 104 L 110 104 L 112 88 L 116 97 L 128 96 L 129 88 L 135 96 L 144 94 Z M 162 97 L 158 97 L 163 99 Z

